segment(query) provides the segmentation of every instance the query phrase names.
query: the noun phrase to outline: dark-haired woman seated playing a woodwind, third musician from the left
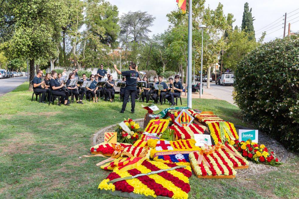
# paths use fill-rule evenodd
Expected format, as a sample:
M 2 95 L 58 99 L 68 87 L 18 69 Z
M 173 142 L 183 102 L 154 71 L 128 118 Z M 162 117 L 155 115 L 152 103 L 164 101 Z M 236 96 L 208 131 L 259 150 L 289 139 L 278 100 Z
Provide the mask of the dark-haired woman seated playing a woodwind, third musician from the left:
M 68 102 L 69 92 L 63 91 L 62 88 L 65 89 L 65 84 L 61 82 L 57 78 L 57 72 L 51 72 L 52 78 L 50 80 L 50 88 L 52 95 L 60 96 L 60 103 L 64 100 L 64 105 L 69 106 L 70 102 Z M 59 99 L 58 99 L 59 100 Z

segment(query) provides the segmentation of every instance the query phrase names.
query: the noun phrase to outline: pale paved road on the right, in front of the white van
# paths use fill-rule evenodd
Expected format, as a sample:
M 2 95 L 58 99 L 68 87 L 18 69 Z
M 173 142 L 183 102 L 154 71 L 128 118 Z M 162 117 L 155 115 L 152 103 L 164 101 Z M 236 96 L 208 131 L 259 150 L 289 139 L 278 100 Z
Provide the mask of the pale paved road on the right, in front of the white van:
M 233 100 L 233 86 L 219 86 L 215 82 L 210 82 L 210 88 L 207 88 L 207 82 L 204 82 L 204 92 L 209 93 L 219 99 L 228 101 L 231 104 L 234 104 Z

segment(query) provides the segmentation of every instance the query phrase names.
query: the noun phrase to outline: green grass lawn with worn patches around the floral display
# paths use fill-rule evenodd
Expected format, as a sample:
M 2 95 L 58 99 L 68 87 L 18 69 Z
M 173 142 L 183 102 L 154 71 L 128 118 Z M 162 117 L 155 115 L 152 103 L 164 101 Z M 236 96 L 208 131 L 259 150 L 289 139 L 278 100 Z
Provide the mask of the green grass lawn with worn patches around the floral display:
M 109 172 L 88 155 L 92 136 L 124 118 L 143 118 L 127 104 L 104 102 L 57 106 L 31 102 L 28 83 L 0 97 L 0 198 L 117 198 L 102 195 L 97 186 Z M 183 99 L 183 106 L 186 106 Z M 221 100 L 193 99 L 193 108 L 213 111 L 221 118 L 245 126 L 238 107 Z M 167 105 L 159 106 L 160 110 Z M 190 198 L 298 198 L 298 156 L 277 170 L 236 179 L 190 179 Z

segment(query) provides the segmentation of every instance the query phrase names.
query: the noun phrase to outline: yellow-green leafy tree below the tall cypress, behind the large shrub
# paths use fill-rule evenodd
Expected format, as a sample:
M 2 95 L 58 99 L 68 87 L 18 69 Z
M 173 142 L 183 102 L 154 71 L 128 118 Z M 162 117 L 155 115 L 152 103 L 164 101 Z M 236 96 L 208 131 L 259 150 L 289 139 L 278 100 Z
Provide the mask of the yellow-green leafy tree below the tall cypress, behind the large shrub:
M 228 33 L 227 49 L 223 55 L 223 63 L 226 68 L 235 70 L 237 64 L 251 51 L 257 47 L 255 40 L 249 40 L 248 35 L 241 30 Z

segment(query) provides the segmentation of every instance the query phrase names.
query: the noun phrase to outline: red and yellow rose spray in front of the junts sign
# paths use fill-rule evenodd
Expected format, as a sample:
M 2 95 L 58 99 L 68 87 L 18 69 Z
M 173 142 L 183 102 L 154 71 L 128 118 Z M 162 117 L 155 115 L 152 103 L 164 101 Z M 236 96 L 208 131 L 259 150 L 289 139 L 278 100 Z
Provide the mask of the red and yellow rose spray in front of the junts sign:
M 265 163 L 271 166 L 279 166 L 282 164 L 273 151 L 263 144 L 252 142 L 250 139 L 241 142 L 239 142 L 239 140 L 230 141 L 229 144 L 232 144 L 243 157 L 251 159 L 257 163 Z

